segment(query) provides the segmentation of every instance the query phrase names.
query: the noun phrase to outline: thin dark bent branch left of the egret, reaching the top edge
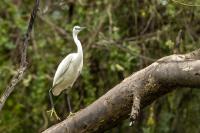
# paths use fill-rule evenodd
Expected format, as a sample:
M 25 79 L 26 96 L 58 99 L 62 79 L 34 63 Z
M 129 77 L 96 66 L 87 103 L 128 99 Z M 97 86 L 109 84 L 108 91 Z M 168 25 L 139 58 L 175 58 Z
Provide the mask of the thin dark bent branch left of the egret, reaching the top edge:
M 30 39 L 31 31 L 33 29 L 33 24 L 34 24 L 35 17 L 36 17 L 37 11 L 38 11 L 38 7 L 39 7 L 39 0 L 35 0 L 35 5 L 34 5 L 33 10 L 31 12 L 31 18 L 30 18 L 29 24 L 28 24 L 28 29 L 27 29 L 26 34 L 24 36 L 23 44 L 22 44 L 22 47 L 21 47 L 21 50 L 20 50 L 20 52 L 21 52 L 20 67 L 17 70 L 17 73 L 11 79 L 6 90 L 4 91 L 3 95 L 0 98 L 0 111 L 2 110 L 7 98 L 14 91 L 15 86 L 22 80 L 22 78 L 24 76 L 24 72 L 27 68 L 27 64 L 28 64 L 27 61 L 26 61 L 27 46 L 28 46 L 28 42 L 29 42 L 29 39 Z

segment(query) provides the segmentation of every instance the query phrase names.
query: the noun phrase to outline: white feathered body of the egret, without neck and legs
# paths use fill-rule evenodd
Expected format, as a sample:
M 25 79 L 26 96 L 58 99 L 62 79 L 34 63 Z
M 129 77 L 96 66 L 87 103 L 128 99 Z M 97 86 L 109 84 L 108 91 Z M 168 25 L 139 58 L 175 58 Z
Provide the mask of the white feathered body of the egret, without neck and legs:
M 69 54 L 59 64 L 53 80 L 52 93 L 58 96 L 64 89 L 73 86 L 83 67 L 83 59 L 77 53 Z

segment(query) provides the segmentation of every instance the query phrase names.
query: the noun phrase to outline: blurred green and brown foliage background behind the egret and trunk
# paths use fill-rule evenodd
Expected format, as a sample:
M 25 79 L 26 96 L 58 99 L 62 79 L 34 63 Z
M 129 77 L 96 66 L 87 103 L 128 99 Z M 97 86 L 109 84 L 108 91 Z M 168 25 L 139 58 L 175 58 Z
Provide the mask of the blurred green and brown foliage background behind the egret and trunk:
M 179 0 L 200 4 L 200 0 Z M 0 1 L 0 93 L 19 66 L 19 49 L 34 1 Z M 172 0 L 41 0 L 28 46 L 29 67 L 23 81 L 0 112 L 1 133 L 35 133 L 57 123 L 49 119 L 48 90 L 59 62 L 76 51 L 74 25 L 79 34 L 84 67 L 70 92 L 73 111 L 86 107 L 125 77 L 156 59 L 173 54 L 180 29 L 180 53 L 200 46 L 200 7 Z M 66 97 L 55 98 L 56 110 L 68 115 Z M 200 91 L 178 89 L 141 113 L 134 127 L 124 121 L 107 133 L 199 133 Z

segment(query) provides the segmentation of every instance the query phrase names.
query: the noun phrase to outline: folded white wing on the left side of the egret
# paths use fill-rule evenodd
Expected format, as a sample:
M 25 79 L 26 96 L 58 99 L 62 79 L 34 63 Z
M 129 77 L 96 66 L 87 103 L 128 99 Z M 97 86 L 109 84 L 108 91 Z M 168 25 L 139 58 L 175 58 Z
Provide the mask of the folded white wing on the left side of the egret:
M 53 79 L 53 86 L 56 86 L 59 82 L 63 79 L 63 74 L 68 70 L 72 59 L 74 57 L 74 53 L 69 54 L 67 57 L 65 57 L 61 63 L 59 64 L 54 79 Z

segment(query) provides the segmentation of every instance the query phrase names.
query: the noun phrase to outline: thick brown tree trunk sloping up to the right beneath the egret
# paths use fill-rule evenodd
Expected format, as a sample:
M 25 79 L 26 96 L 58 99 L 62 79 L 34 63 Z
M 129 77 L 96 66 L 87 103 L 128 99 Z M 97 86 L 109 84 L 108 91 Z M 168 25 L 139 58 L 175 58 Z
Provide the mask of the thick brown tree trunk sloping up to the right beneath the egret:
M 133 73 L 94 103 L 44 133 L 102 132 L 129 117 L 160 96 L 181 87 L 200 86 L 200 50 L 163 57 Z

